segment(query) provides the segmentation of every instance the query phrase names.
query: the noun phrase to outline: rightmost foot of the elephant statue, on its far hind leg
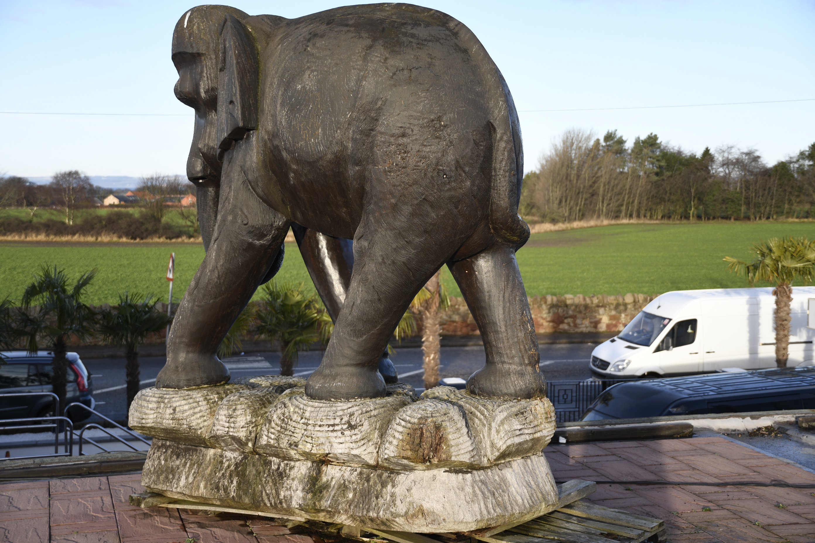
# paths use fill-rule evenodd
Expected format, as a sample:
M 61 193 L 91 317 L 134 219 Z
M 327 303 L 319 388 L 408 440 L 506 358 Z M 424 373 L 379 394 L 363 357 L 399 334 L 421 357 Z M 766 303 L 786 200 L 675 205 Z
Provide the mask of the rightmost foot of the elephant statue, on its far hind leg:
M 546 379 L 532 366 L 487 364 L 469 376 L 467 392 L 484 398 L 544 398 Z

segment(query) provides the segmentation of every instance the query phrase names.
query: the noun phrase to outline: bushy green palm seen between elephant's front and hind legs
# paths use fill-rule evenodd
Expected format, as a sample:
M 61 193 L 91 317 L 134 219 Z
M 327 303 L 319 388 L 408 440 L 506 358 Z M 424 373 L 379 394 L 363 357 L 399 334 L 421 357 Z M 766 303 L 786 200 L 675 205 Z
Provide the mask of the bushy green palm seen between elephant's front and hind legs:
M 317 297 L 306 296 L 302 282 L 272 280 L 263 287 L 255 331 L 269 341 L 280 341 L 281 375 L 293 374 L 297 353 L 320 339 L 320 313 Z

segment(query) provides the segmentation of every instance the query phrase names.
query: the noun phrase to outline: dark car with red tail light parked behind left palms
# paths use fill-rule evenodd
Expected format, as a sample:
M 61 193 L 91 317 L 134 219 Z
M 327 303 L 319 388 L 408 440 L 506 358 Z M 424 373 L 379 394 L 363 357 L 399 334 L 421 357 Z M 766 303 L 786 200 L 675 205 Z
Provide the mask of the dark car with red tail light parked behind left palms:
M 25 351 L 0 352 L 0 394 L 15 392 L 51 392 L 52 362 L 54 353 L 39 351 L 36 354 Z M 68 353 L 68 404 L 81 402 L 93 409 L 95 401 L 90 374 L 77 353 Z M 12 396 L 0 397 L 0 419 L 44 417 L 51 412 L 53 396 Z M 67 405 L 67 404 L 66 404 Z M 64 409 L 64 405 L 60 407 Z M 60 413 L 61 414 L 61 413 Z M 72 409 L 69 412 L 73 422 L 90 416 L 86 409 Z

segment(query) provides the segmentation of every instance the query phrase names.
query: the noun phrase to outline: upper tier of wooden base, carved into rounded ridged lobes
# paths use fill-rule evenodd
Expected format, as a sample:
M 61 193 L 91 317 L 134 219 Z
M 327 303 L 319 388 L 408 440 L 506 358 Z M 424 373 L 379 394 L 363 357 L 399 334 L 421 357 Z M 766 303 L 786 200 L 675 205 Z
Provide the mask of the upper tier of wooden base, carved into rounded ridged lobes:
M 491 400 L 437 387 L 416 401 L 401 385 L 384 398 L 324 401 L 298 384 L 263 376 L 192 390 L 147 388 L 130 420 L 163 440 L 391 470 L 482 469 L 524 458 L 544 449 L 555 426 L 545 398 Z

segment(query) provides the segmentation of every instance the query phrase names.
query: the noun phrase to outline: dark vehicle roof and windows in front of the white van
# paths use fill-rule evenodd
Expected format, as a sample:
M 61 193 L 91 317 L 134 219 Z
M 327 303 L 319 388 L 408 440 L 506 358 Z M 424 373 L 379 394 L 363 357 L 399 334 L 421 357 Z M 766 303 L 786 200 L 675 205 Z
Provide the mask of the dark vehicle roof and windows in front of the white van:
M 580 420 L 815 409 L 815 366 L 617 383 Z

